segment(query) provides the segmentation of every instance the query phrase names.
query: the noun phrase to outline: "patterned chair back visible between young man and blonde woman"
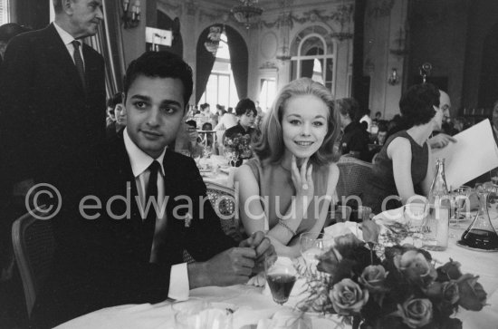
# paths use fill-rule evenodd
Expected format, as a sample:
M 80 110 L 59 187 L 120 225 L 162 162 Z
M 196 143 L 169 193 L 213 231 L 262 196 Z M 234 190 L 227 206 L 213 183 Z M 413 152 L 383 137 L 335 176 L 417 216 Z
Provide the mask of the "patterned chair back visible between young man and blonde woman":
M 235 189 L 206 181 L 206 195 L 211 202 L 211 206 L 215 209 L 216 215 L 220 218 L 221 228 L 225 235 L 234 238 L 237 242 L 242 241 L 243 235 L 238 221 L 238 214 L 235 211 Z M 195 261 L 187 250 L 183 252 L 183 260 L 186 263 Z

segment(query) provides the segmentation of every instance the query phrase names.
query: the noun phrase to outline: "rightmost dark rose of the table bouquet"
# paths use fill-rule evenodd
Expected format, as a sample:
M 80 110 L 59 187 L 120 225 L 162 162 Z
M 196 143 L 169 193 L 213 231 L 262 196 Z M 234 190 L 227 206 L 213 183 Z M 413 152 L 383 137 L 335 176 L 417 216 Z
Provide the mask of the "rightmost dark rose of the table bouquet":
M 486 305 L 486 292 L 483 285 L 477 282 L 479 276 L 465 274 L 460 276 L 456 282 L 460 291 L 458 304 L 466 310 L 481 311 Z

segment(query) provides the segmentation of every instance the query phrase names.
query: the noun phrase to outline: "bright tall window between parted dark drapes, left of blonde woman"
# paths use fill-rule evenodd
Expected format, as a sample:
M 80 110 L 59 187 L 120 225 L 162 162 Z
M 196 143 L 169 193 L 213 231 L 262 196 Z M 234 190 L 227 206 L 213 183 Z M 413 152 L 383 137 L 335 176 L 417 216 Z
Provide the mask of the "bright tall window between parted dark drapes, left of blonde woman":
M 215 57 L 215 64 L 206 84 L 206 92 L 201 96 L 199 103 L 207 102 L 211 107 L 215 104 L 224 105 L 225 108 L 235 107 L 239 99 L 225 31 L 221 34 Z

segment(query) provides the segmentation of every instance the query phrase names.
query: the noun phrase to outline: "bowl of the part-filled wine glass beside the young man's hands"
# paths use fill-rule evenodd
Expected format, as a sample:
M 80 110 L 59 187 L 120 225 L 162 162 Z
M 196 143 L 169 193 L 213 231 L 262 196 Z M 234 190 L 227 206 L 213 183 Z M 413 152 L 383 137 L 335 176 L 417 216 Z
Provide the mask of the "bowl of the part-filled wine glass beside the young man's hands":
M 272 292 L 273 301 L 283 305 L 289 300 L 296 282 L 296 269 L 290 258 L 267 256 L 264 258 L 264 277 Z

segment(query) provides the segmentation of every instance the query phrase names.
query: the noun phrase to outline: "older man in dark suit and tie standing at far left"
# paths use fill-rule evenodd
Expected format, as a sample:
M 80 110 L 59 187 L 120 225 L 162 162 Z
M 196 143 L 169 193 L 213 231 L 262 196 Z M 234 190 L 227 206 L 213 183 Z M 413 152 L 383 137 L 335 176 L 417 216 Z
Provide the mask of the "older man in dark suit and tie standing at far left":
M 14 37 L 0 69 L 2 208 L 105 136 L 104 61 L 81 43 L 97 33 L 102 0 L 53 0 L 53 6 L 54 22 Z M 10 221 L 0 222 L 8 233 Z

